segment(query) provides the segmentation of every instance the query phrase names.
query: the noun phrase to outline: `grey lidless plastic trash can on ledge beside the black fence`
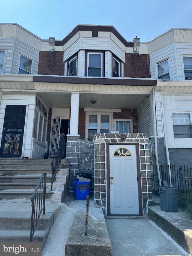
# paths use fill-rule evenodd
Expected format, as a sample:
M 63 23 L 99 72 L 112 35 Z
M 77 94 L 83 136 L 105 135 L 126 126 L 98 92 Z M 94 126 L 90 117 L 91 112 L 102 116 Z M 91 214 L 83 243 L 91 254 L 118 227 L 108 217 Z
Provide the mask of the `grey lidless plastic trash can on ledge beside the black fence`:
M 160 207 L 165 212 L 177 212 L 178 188 L 159 186 Z

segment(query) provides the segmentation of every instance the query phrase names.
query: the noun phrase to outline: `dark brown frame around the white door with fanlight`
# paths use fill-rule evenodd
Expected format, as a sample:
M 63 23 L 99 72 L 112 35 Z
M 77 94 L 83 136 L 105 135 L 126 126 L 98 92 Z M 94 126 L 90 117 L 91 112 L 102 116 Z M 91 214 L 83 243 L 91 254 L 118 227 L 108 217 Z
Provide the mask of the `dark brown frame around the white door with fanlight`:
M 110 145 L 122 145 L 129 146 L 135 145 L 136 147 L 136 161 L 137 161 L 137 182 L 138 182 L 138 195 L 139 195 L 139 215 L 143 216 L 143 202 L 142 202 L 142 185 L 141 185 L 141 169 L 140 169 L 140 154 L 139 154 L 139 143 L 106 143 L 106 152 L 107 152 L 107 172 L 106 172 L 106 181 L 107 181 L 107 215 L 110 215 L 110 154 L 109 147 Z

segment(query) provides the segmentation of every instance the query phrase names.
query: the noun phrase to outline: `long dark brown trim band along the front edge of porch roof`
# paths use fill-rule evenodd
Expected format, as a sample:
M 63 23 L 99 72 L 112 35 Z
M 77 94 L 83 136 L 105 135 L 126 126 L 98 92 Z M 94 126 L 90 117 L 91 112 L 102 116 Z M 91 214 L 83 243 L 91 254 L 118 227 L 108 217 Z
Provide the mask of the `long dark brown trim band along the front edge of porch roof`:
M 76 84 L 107 84 L 107 85 L 125 85 L 125 86 L 156 86 L 156 79 L 122 79 L 122 78 L 104 78 L 104 77 L 66 77 L 66 76 L 48 76 L 33 75 L 33 82 L 42 83 L 76 83 Z

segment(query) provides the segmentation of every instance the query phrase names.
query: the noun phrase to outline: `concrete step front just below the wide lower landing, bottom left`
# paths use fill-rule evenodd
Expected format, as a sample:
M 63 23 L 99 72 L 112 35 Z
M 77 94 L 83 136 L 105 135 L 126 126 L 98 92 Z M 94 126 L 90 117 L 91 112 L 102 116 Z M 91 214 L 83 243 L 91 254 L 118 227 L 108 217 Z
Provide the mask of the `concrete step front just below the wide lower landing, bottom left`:
M 32 207 L 31 207 L 32 210 Z M 41 213 L 38 229 L 51 229 L 54 223 L 52 212 Z M 0 230 L 5 229 L 23 229 L 31 228 L 31 212 L 0 212 Z

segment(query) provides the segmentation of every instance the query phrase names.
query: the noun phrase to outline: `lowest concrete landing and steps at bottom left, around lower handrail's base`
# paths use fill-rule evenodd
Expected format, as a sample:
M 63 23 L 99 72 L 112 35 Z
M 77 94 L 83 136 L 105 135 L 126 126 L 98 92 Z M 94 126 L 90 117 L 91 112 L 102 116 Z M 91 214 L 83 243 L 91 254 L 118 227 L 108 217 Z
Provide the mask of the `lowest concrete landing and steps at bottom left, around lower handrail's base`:
M 31 203 L 1 203 L 0 242 L 29 242 L 31 228 Z M 61 212 L 61 204 L 46 203 L 41 213 L 32 242 L 41 242 L 44 248 L 49 232 Z

